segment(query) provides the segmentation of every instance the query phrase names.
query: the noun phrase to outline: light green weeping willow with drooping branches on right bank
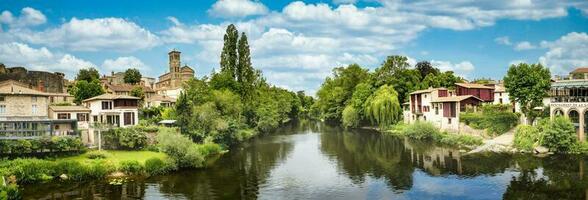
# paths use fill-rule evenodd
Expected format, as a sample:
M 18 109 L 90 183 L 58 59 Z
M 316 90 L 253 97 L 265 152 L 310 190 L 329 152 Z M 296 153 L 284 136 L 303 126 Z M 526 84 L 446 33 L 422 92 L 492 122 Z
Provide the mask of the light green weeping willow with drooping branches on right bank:
M 392 125 L 400 120 L 402 110 L 398 93 L 394 87 L 383 85 L 364 104 L 364 112 L 373 124 L 380 127 Z

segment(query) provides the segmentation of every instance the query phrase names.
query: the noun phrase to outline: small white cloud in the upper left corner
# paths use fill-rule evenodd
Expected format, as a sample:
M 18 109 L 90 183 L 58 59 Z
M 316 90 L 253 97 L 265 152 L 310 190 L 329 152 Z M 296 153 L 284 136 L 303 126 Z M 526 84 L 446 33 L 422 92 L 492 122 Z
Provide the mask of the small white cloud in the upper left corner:
M 36 26 L 47 22 L 47 17 L 38 10 L 25 7 L 20 11 L 20 16 L 14 16 L 10 11 L 3 11 L 0 14 L 0 24 L 8 24 L 12 28 Z

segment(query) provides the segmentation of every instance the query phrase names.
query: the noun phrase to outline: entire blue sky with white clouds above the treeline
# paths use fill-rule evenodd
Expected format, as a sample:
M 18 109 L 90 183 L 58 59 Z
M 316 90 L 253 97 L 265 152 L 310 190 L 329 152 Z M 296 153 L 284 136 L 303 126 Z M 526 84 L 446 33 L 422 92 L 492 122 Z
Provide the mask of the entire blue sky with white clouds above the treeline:
M 585 0 L 0 0 L 0 63 L 158 77 L 177 49 L 203 77 L 219 68 L 229 24 L 271 84 L 307 94 L 334 67 L 374 70 L 389 55 L 469 80 L 502 79 L 520 62 L 553 75 L 588 66 Z

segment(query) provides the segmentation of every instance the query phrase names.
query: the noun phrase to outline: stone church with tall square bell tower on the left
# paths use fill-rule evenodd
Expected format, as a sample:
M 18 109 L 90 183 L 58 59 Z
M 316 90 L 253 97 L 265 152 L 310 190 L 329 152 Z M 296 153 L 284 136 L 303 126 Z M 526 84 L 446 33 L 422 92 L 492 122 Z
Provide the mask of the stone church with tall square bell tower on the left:
M 184 65 L 181 67 L 181 52 L 172 50 L 169 55 L 169 72 L 159 76 L 159 81 L 155 83 L 158 94 L 177 98 L 182 91 L 182 84 L 191 78 L 194 78 L 194 70 Z

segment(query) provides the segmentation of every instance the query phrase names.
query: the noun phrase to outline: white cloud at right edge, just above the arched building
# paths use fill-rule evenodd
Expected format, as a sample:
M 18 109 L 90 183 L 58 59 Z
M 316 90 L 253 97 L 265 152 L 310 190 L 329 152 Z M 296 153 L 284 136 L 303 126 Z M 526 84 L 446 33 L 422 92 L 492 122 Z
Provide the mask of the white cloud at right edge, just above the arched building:
M 588 34 L 571 32 L 555 41 L 543 41 L 548 51 L 539 62 L 551 69 L 552 74 L 567 74 L 577 67 L 588 66 Z

